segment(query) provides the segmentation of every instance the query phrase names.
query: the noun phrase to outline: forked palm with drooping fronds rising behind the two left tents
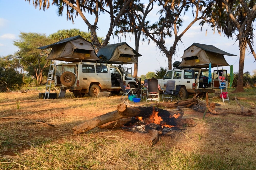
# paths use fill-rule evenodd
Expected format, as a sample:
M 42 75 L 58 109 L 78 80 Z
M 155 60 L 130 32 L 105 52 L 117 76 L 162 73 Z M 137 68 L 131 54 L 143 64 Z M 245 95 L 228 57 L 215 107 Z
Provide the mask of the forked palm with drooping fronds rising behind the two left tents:
M 30 3 L 30 0 L 26 0 Z M 72 20 L 74 23 L 74 17 L 78 15 L 81 16 L 83 21 L 88 26 L 88 30 L 91 31 L 92 44 L 96 48 L 104 47 L 108 44 L 110 40 L 110 36 L 113 33 L 113 29 L 115 24 L 118 22 L 120 16 L 122 16 L 126 7 L 132 2 L 132 0 L 124 1 L 123 8 L 120 10 L 118 15 L 114 15 L 113 2 L 111 0 L 93 0 L 93 1 L 80 1 L 80 0 L 52 0 L 52 5 L 56 5 L 58 7 L 58 15 L 62 16 L 63 10 L 66 9 L 67 20 Z M 50 7 L 50 0 L 33 0 L 33 5 L 35 8 L 39 7 L 39 10 L 43 8 L 43 10 L 48 9 Z M 100 13 L 108 13 L 110 16 L 110 25 L 108 32 L 106 34 L 104 42 L 101 44 L 98 40 L 96 30 L 98 29 L 97 24 L 99 21 Z M 86 16 L 86 13 L 88 16 Z M 94 22 L 90 23 L 88 18 L 92 18 L 94 15 Z

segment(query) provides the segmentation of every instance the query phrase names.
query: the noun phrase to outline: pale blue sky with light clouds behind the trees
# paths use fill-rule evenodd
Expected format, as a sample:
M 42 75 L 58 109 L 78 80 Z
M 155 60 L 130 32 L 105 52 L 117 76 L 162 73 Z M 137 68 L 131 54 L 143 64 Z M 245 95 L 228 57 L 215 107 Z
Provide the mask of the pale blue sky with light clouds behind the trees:
M 32 1 L 31 1 L 32 2 Z M 64 12 L 65 13 L 65 12 Z M 151 14 L 150 17 L 152 21 L 156 18 L 155 14 Z M 184 20 L 189 20 L 189 15 L 184 16 Z M 93 17 L 91 17 L 93 20 Z M 6 56 L 9 54 L 14 54 L 18 48 L 13 45 L 13 41 L 19 39 L 20 32 L 36 32 L 36 33 L 45 33 L 46 35 L 57 32 L 62 29 L 80 29 L 80 31 L 87 32 L 88 27 L 78 16 L 74 19 L 75 23 L 72 24 L 71 21 L 66 20 L 66 15 L 58 17 L 57 7 L 50 6 L 49 9 L 43 11 L 39 10 L 28 2 L 16 1 L 10 5 L 8 0 L 0 0 L 0 56 Z M 184 26 L 186 22 L 184 23 Z M 99 20 L 99 31 L 98 36 L 105 37 L 108 28 L 108 16 L 105 14 L 102 18 L 100 16 Z M 176 48 L 178 56 L 173 59 L 174 61 L 181 61 L 180 57 L 183 55 L 184 50 L 190 45 L 195 43 L 214 45 L 217 48 L 220 48 L 223 51 L 226 51 L 231 54 L 238 56 L 225 56 L 225 59 L 230 65 L 233 65 L 234 72 L 238 72 L 239 64 L 239 46 L 238 42 L 234 40 L 228 40 L 224 35 L 220 36 L 218 33 L 213 33 L 210 28 L 207 27 L 200 31 L 198 23 L 194 24 L 188 32 L 182 37 L 182 42 L 178 43 Z M 180 30 L 183 30 L 180 28 Z M 126 40 L 123 37 L 121 42 L 126 41 L 131 47 L 135 48 L 135 43 L 133 38 L 127 37 Z M 169 38 L 165 40 L 166 46 L 170 47 L 173 44 L 173 39 Z M 117 37 L 111 37 L 110 44 L 118 43 Z M 155 72 L 156 69 L 159 69 L 160 66 L 167 67 L 168 60 L 165 56 L 162 55 L 156 48 L 155 44 L 151 40 L 151 43 L 148 45 L 147 42 L 140 43 L 139 53 L 142 57 L 139 57 L 138 60 L 138 76 L 146 74 L 149 71 Z M 249 71 L 253 74 L 253 70 L 256 69 L 252 54 L 249 54 L 246 51 L 244 72 Z M 215 70 L 217 68 L 213 68 Z M 228 70 L 229 67 L 223 67 L 223 69 Z

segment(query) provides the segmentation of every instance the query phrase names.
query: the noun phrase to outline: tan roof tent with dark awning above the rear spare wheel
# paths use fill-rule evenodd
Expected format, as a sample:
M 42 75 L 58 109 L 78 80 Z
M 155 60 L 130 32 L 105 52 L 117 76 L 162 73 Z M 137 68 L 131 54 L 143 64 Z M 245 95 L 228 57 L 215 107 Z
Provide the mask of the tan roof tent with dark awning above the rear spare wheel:
M 52 48 L 47 60 L 74 61 L 99 61 L 92 43 L 80 35 L 65 38 L 57 43 L 39 47 L 39 49 Z

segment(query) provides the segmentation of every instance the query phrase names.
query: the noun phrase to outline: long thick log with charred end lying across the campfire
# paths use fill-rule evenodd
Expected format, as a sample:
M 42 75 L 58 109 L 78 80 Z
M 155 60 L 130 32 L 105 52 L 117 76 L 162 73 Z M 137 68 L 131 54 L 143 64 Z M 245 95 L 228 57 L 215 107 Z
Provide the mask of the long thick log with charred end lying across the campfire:
M 84 123 L 74 126 L 72 128 L 73 133 L 74 134 L 84 133 L 100 125 L 113 122 L 126 117 L 143 116 L 147 118 L 152 114 L 153 109 L 158 111 L 158 115 L 162 117 L 163 121 L 165 121 L 166 123 L 172 124 L 173 126 L 176 126 L 180 124 L 182 116 L 184 114 L 184 112 L 182 111 L 175 113 L 175 112 L 171 112 L 171 111 L 167 111 L 159 108 L 153 108 L 153 107 L 127 107 L 125 103 L 119 103 L 116 109 L 117 110 L 115 111 L 94 117 L 90 120 L 85 121 Z

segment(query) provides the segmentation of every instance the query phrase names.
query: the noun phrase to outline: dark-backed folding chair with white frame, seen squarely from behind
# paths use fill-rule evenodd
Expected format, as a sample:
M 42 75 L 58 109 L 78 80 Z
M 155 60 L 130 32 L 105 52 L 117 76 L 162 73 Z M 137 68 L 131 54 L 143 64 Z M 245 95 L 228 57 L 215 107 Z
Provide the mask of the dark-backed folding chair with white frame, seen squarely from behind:
M 158 80 L 148 79 L 147 80 L 147 99 L 146 100 L 156 100 L 159 102 L 159 90 L 158 90 Z

